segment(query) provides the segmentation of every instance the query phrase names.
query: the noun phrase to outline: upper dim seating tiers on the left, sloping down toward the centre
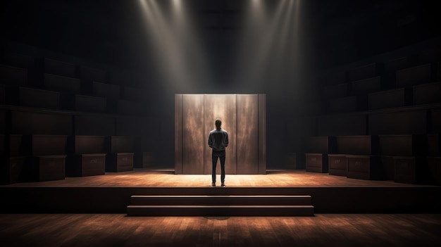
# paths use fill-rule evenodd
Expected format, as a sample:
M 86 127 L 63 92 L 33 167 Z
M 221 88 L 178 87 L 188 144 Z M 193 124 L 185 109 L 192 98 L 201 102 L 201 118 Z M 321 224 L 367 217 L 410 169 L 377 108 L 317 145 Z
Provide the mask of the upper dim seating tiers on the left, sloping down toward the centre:
M 146 113 L 142 89 L 111 84 L 128 80 L 122 73 L 11 52 L 6 52 L 3 60 L 1 104 L 123 115 Z

